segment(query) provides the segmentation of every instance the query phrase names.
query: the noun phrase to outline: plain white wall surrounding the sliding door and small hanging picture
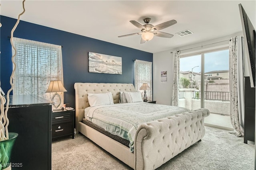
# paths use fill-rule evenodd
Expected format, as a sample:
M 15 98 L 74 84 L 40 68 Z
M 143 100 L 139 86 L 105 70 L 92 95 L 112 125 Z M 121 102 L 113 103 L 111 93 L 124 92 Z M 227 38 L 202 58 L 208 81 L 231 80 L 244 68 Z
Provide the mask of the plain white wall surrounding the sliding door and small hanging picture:
M 225 37 L 204 41 L 201 43 L 196 43 L 193 45 L 178 47 L 176 49 L 181 51 L 180 55 L 182 56 L 182 55 L 188 55 L 190 53 L 200 53 L 202 51 L 212 50 L 216 47 L 218 48 L 228 47 L 229 39 L 231 37 L 238 36 L 238 35 L 242 35 L 242 32 L 235 33 L 232 35 L 227 35 Z M 220 41 L 224 41 L 224 42 L 220 42 Z M 209 45 L 209 44 L 212 44 L 212 45 Z M 194 48 L 194 49 L 190 49 L 190 48 Z M 166 104 L 166 105 L 171 104 L 173 55 L 170 52 L 176 49 L 170 49 L 167 51 L 162 51 L 162 52 L 153 54 L 153 99 L 156 100 L 157 104 Z M 184 50 L 184 49 L 188 49 L 188 50 Z M 161 71 L 167 71 L 167 82 L 160 81 Z M 248 73 L 248 66 L 245 66 L 245 72 Z

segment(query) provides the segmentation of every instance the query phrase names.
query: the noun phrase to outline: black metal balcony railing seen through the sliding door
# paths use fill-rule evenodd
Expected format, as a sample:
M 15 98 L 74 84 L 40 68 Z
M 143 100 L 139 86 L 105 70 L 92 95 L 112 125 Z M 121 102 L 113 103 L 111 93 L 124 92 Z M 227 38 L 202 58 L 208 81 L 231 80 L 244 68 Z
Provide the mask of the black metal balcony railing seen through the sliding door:
M 200 99 L 201 92 L 193 92 L 193 99 Z M 204 92 L 204 99 L 206 100 L 222 100 L 229 101 L 230 100 L 230 92 Z

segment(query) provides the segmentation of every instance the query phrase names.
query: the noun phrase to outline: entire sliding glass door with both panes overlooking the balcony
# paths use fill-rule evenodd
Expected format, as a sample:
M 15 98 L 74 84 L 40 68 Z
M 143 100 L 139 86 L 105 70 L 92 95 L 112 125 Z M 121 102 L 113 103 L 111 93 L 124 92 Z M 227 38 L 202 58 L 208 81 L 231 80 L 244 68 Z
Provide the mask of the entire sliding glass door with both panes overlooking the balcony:
M 207 108 L 206 124 L 232 129 L 228 49 L 180 58 L 179 104 L 188 109 Z

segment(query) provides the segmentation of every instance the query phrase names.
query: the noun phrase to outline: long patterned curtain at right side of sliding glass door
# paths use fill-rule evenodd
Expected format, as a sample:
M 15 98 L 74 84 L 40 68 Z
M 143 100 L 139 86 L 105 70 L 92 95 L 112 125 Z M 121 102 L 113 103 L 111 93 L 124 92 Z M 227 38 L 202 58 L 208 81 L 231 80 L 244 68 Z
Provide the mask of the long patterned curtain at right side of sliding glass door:
M 232 37 L 230 57 L 230 119 L 236 136 L 244 136 L 244 68 L 243 37 Z

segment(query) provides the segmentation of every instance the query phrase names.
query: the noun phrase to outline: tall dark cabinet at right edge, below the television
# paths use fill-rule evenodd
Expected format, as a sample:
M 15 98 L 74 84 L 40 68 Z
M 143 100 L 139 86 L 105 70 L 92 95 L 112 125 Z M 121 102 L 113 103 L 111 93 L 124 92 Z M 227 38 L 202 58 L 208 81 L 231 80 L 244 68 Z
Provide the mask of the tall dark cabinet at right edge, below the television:
M 251 88 L 250 78 L 245 77 L 244 143 L 254 141 L 255 88 Z

